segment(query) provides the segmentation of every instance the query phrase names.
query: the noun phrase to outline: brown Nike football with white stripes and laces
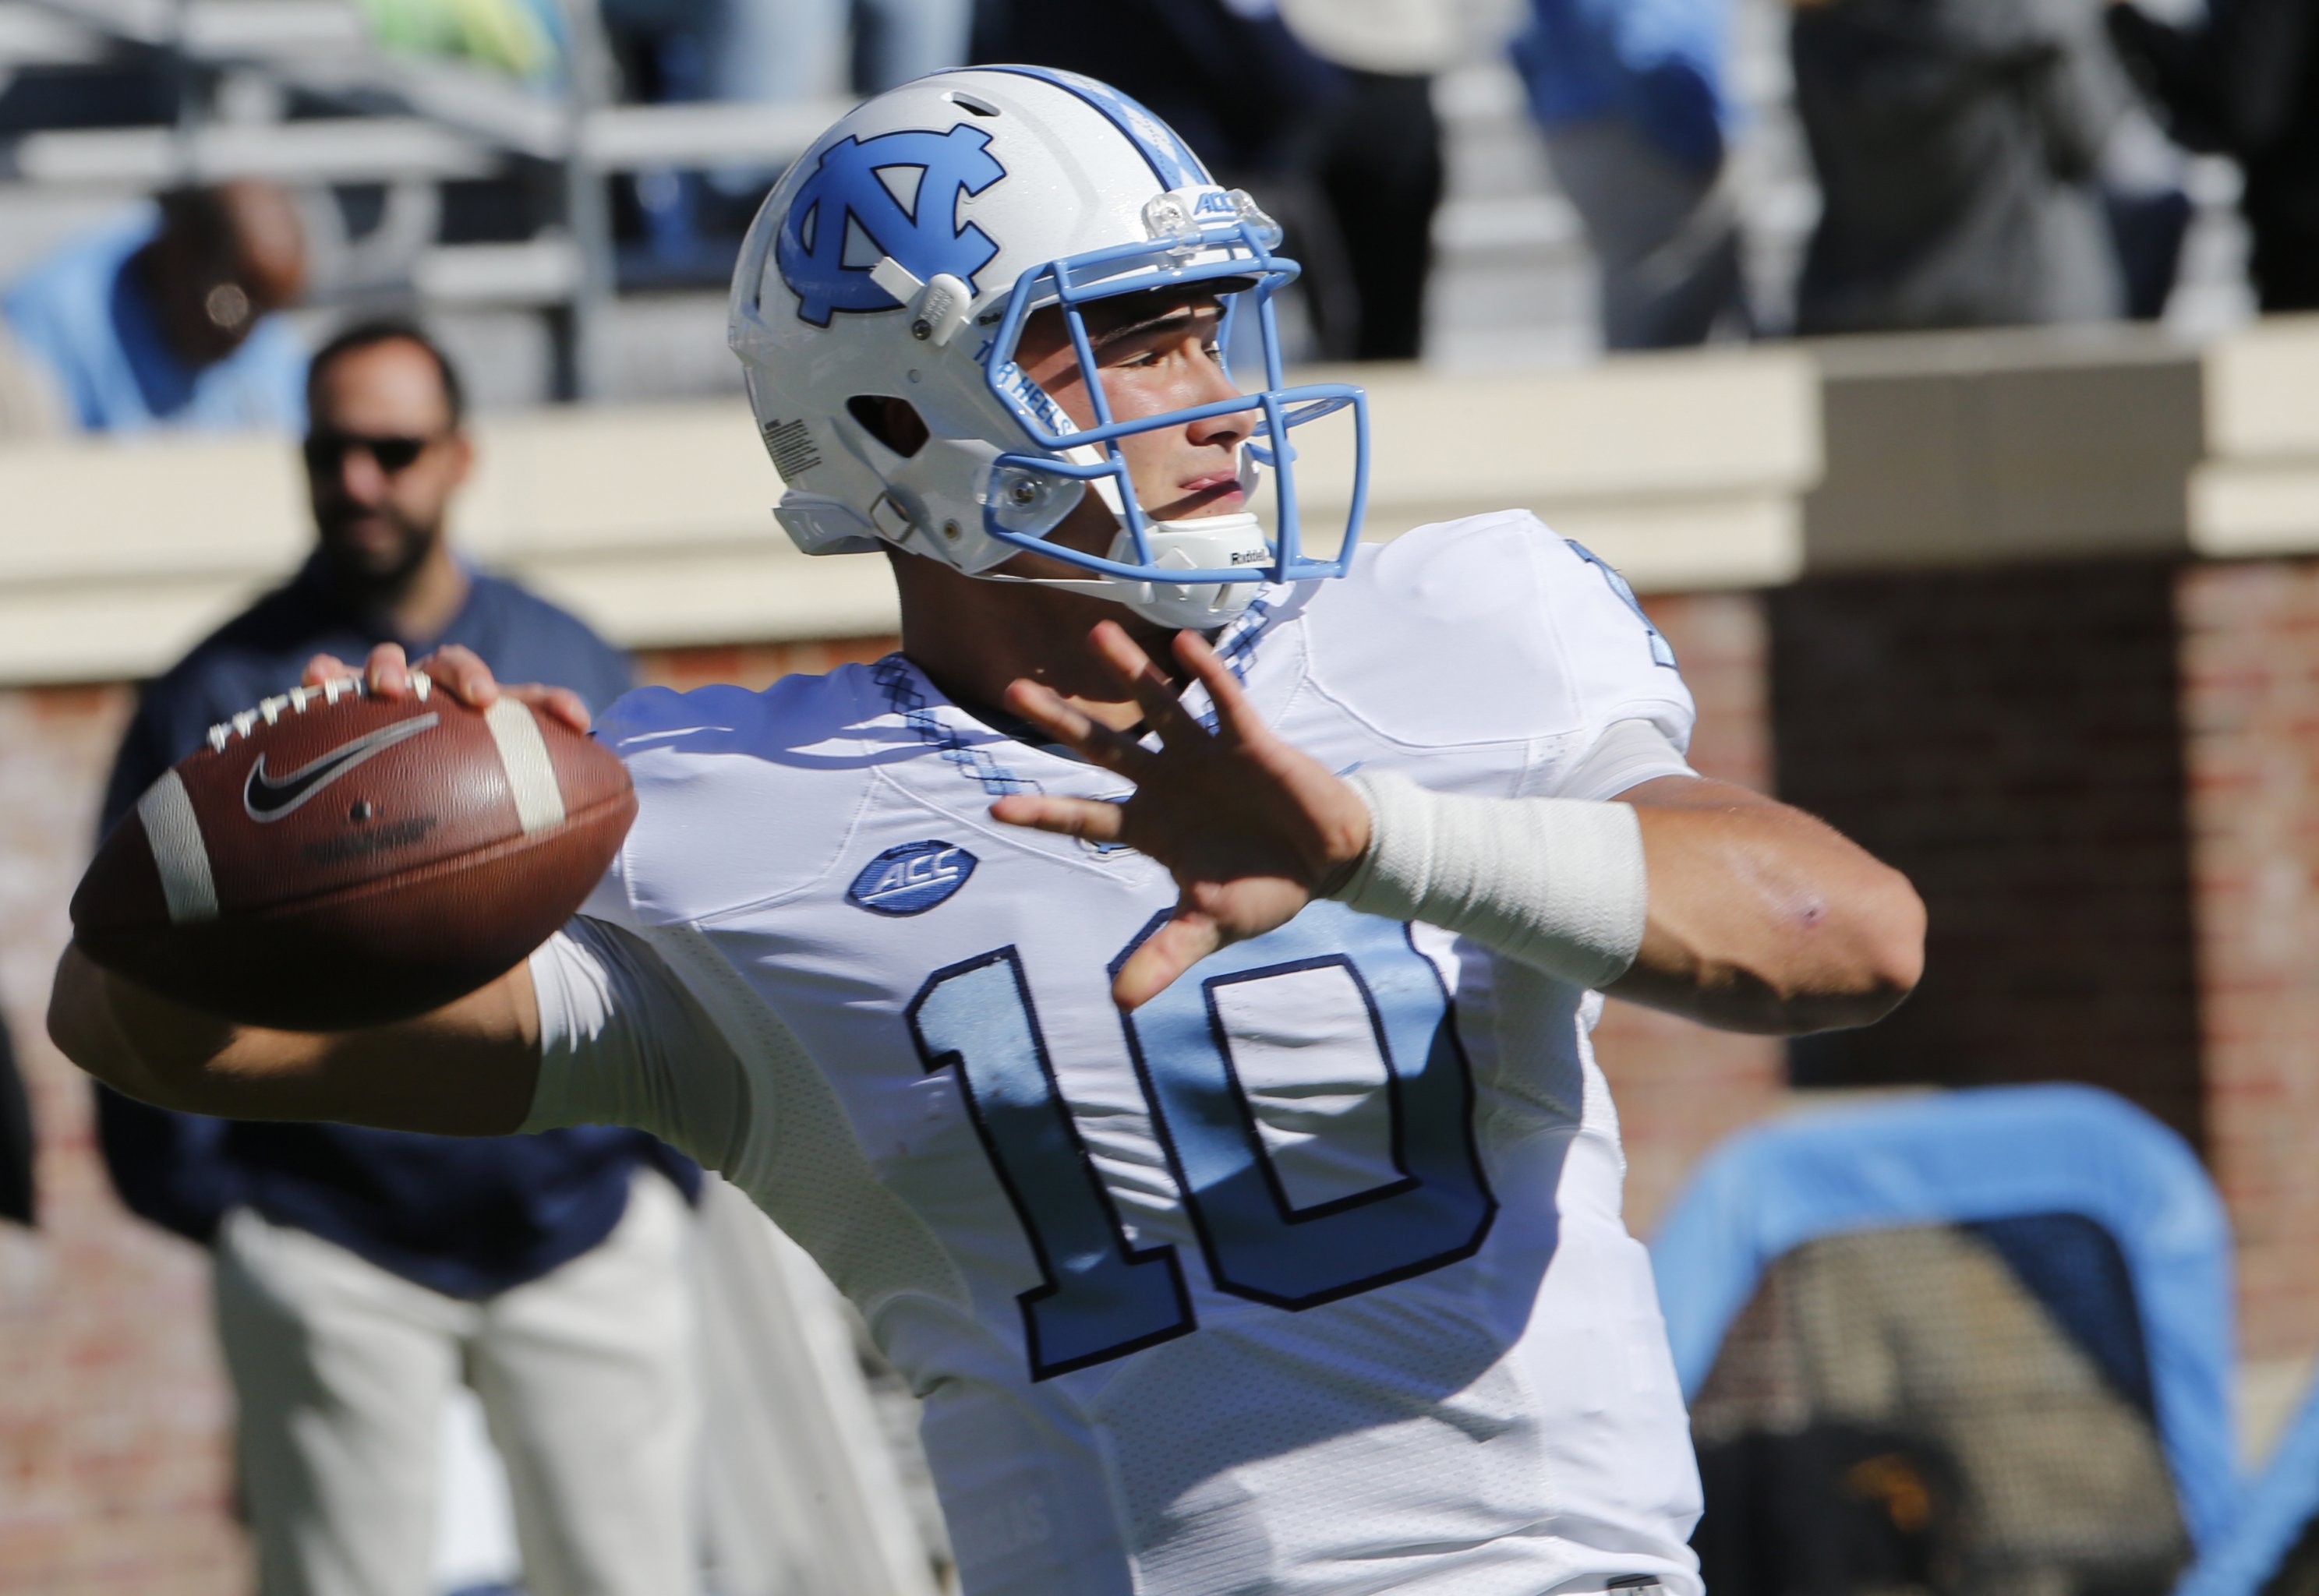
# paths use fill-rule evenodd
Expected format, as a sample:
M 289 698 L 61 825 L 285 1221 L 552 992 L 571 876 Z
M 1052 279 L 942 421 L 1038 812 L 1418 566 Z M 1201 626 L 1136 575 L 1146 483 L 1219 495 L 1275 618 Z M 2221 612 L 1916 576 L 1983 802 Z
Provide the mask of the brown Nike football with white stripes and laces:
M 137 800 L 72 895 L 72 933 L 107 970 L 246 1025 L 383 1025 L 517 965 L 631 819 L 619 759 L 515 698 L 301 689 L 211 728 Z

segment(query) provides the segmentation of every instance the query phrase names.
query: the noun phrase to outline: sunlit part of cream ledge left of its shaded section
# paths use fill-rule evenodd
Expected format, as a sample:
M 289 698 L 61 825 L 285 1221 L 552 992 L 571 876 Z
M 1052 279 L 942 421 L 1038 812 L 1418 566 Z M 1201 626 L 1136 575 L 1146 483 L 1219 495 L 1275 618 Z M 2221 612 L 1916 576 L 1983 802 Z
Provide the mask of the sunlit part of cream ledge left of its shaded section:
M 1802 568 L 1818 401 L 1793 353 L 1361 378 L 1371 536 L 1526 506 L 1644 587 L 1760 587 Z M 1350 483 L 1350 427 L 1324 427 L 1299 431 L 1315 527 L 1343 515 Z M 489 415 L 475 448 L 459 547 L 624 645 L 895 626 L 881 559 L 807 559 L 782 536 L 782 483 L 737 401 Z M 262 436 L 0 448 L 0 682 L 151 675 L 313 536 L 295 450 Z

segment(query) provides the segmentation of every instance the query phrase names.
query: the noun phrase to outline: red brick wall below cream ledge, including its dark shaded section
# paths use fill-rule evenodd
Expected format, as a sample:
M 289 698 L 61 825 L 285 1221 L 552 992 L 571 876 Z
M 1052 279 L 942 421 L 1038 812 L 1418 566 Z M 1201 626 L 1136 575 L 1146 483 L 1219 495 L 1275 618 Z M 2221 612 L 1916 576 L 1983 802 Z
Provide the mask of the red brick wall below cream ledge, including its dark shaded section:
M 1797 1072 L 2124 1090 L 2212 1158 L 2249 1352 L 2319 1345 L 2319 566 L 1818 580 L 1649 610 L 1700 701 L 1693 763 L 1825 814 L 1932 902 L 1922 993 L 1797 1046 Z M 886 647 L 640 668 L 754 687 Z M 46 1204 L 37 1241 L 0 1229 L 0 1589 L 230 1596 L 248 1568 L 204 1269 L 111 1199 L 86 1086 L 39 1025 L 125 710 L 121 689 L 0 694 L 0 1009 Z M 1700 1153 L 1788 1102 L 1779 1042 L 1609 1004 L 1598 1044 L 1642 1234 Z

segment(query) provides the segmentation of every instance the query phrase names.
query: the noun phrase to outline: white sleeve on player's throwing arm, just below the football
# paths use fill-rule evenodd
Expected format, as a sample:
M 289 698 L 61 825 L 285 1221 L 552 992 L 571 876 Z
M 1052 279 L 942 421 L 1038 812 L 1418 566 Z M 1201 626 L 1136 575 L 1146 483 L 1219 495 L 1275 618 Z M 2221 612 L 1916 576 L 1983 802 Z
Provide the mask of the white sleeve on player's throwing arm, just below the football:
M 740 1060 L 635 933 L 575 916 L 531 956 L 540 1081 L 522 1130 L 631 1125 L 730 1169 L 749 1123 Z

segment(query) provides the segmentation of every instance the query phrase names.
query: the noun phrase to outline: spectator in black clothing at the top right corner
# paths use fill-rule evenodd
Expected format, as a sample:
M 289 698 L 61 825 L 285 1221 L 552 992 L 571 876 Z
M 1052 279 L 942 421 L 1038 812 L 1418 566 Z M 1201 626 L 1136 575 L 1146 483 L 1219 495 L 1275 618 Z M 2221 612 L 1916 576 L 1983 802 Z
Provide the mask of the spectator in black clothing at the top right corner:
M 2238 158 L 2266 311 L 2319 311 L 2319 0 L 2215 0 L 2194 28 L 2113 2 L 2110 37 L 2196 151 Z

